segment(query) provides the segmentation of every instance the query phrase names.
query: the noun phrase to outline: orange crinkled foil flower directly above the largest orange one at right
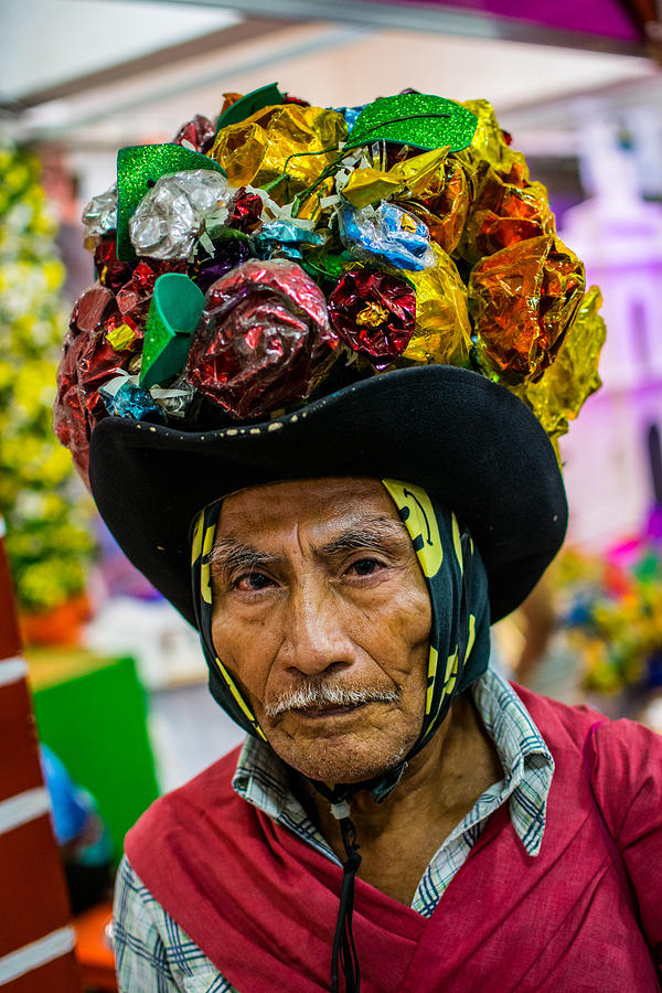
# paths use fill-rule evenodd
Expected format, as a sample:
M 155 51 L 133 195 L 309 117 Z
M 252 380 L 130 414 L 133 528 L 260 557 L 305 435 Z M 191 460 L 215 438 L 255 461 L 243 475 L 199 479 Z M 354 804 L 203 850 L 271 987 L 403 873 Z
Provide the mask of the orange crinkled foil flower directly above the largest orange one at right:
M 516 186 L 489 169 L 471 204 L 459 253 L 473 265 L 517 242 L 555 232 L 554 214 L 542 183 Z

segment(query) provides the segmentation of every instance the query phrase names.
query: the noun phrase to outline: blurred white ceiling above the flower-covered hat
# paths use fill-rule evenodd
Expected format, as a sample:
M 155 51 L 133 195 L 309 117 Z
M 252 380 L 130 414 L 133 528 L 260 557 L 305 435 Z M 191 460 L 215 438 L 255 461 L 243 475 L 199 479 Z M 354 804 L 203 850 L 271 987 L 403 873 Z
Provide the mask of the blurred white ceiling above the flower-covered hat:
M 6 104 L 79 81 L 56 99 L 47 93 L 28 99 L 36 105 L 6 127 L 72 150 L 168 140 L 193 114 L 214 116 L 224 90 L 246 93 L 271 81 L 327 106 L 407 86 L 456 99 L 487 97 L 528 151 L 531 141 L 549 150 L 572 143 L 577 94 L 662 102 L 660 71 L 643 57 L 314 21 L 278 22 L 254 40 L 218 43 L 138 73 L 134 66 L 98 85 L 89 73 L 218 32 L 242 17 L 191 0 L 0 0 L 0 15 Z

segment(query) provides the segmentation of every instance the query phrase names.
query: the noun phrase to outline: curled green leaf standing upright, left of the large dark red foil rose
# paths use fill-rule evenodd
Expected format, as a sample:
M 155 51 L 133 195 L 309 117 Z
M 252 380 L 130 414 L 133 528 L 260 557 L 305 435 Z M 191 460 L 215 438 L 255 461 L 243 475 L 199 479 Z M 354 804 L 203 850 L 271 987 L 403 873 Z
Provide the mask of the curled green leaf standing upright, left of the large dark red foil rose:
M 159 276 L 145 329 L 141 386 L 166 383 L 183 370 L 203 306 L 204 293 L 183 273 Z

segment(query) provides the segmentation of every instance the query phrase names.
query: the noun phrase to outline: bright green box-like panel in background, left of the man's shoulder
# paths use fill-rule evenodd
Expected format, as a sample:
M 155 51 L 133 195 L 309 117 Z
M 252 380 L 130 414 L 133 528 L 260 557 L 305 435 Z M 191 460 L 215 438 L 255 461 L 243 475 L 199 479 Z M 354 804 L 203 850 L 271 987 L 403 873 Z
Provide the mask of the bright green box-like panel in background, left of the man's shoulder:
M 159 796 L 136 664 L 76 650 L 61 665 L 46 652 L 28 661 L 39 736 L 96 799 L 119 861 L 125 834 Z

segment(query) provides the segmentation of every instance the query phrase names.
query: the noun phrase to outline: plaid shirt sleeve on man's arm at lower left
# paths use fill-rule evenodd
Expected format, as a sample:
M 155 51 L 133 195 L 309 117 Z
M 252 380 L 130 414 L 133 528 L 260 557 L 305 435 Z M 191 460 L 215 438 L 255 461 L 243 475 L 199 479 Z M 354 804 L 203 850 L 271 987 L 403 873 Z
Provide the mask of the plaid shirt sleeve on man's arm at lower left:
M 113 936 L 119 993 L 237 993 L 126 856 L 117 871 Z

